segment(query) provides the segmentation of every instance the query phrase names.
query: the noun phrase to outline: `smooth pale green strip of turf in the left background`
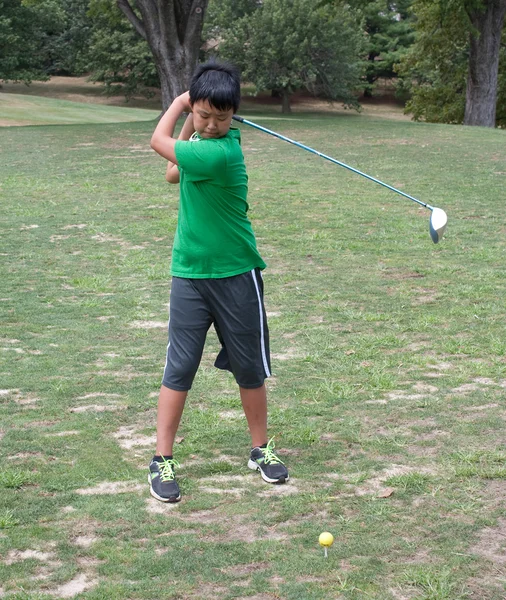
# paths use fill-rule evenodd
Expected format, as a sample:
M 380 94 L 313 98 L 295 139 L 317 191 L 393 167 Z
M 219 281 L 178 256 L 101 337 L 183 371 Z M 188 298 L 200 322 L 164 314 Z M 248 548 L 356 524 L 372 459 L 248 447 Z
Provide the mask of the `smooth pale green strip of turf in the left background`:
M 2 125 L 69 125 L 150 121 L 159 111 L 0 93 Z

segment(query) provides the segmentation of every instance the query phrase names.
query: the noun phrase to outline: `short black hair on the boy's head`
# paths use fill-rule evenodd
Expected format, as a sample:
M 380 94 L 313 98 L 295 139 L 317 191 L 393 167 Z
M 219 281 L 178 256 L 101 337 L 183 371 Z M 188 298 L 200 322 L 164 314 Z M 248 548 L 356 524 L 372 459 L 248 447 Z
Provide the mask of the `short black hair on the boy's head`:
M 241 75 L 239 69 L 226 62 L 211 59 L 197 67 L 190 83 L 190 102 L 207 100 L 218 110 L 239 108 Z

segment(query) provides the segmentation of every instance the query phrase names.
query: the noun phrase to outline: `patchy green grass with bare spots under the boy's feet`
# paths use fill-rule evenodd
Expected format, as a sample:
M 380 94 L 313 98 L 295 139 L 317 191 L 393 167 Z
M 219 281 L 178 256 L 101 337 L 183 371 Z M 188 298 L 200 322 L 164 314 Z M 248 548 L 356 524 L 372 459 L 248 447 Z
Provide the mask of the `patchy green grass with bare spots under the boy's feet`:
M 502 600 L 504 132 L 243 113 L 441 206 L 445 239 L 408 200 L 243 129 L 292 479 L 247 469 L 210 335 L 183 501 L 164 506 L 146 479 L 177 188 L 153 123 L 0 129 L 0 595 Z

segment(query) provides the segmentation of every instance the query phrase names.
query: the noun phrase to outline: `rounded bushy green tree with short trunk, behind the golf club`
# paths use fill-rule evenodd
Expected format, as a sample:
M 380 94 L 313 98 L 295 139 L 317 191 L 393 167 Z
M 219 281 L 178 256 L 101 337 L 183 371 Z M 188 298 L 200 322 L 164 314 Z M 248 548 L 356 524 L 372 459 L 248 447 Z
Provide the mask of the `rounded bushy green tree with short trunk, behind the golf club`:
M 358 107 L 363 36 L 348 7 L 264 0 L 221 35 L 220 56 L 238 64 L 257 90 L 280 91 L 283 112 L 299 89 Z

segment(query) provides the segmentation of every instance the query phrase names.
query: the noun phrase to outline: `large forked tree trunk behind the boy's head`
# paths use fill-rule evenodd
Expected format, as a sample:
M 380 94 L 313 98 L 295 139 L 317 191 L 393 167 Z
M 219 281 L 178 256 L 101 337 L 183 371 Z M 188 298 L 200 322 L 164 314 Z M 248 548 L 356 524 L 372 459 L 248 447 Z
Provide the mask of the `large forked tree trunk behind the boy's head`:
M 117 0 L 153 53 L 164 111 L 188 89 L 198 62 L 207 3 L 208 0 L 136 0 L 139 17 L 129 0 Z

